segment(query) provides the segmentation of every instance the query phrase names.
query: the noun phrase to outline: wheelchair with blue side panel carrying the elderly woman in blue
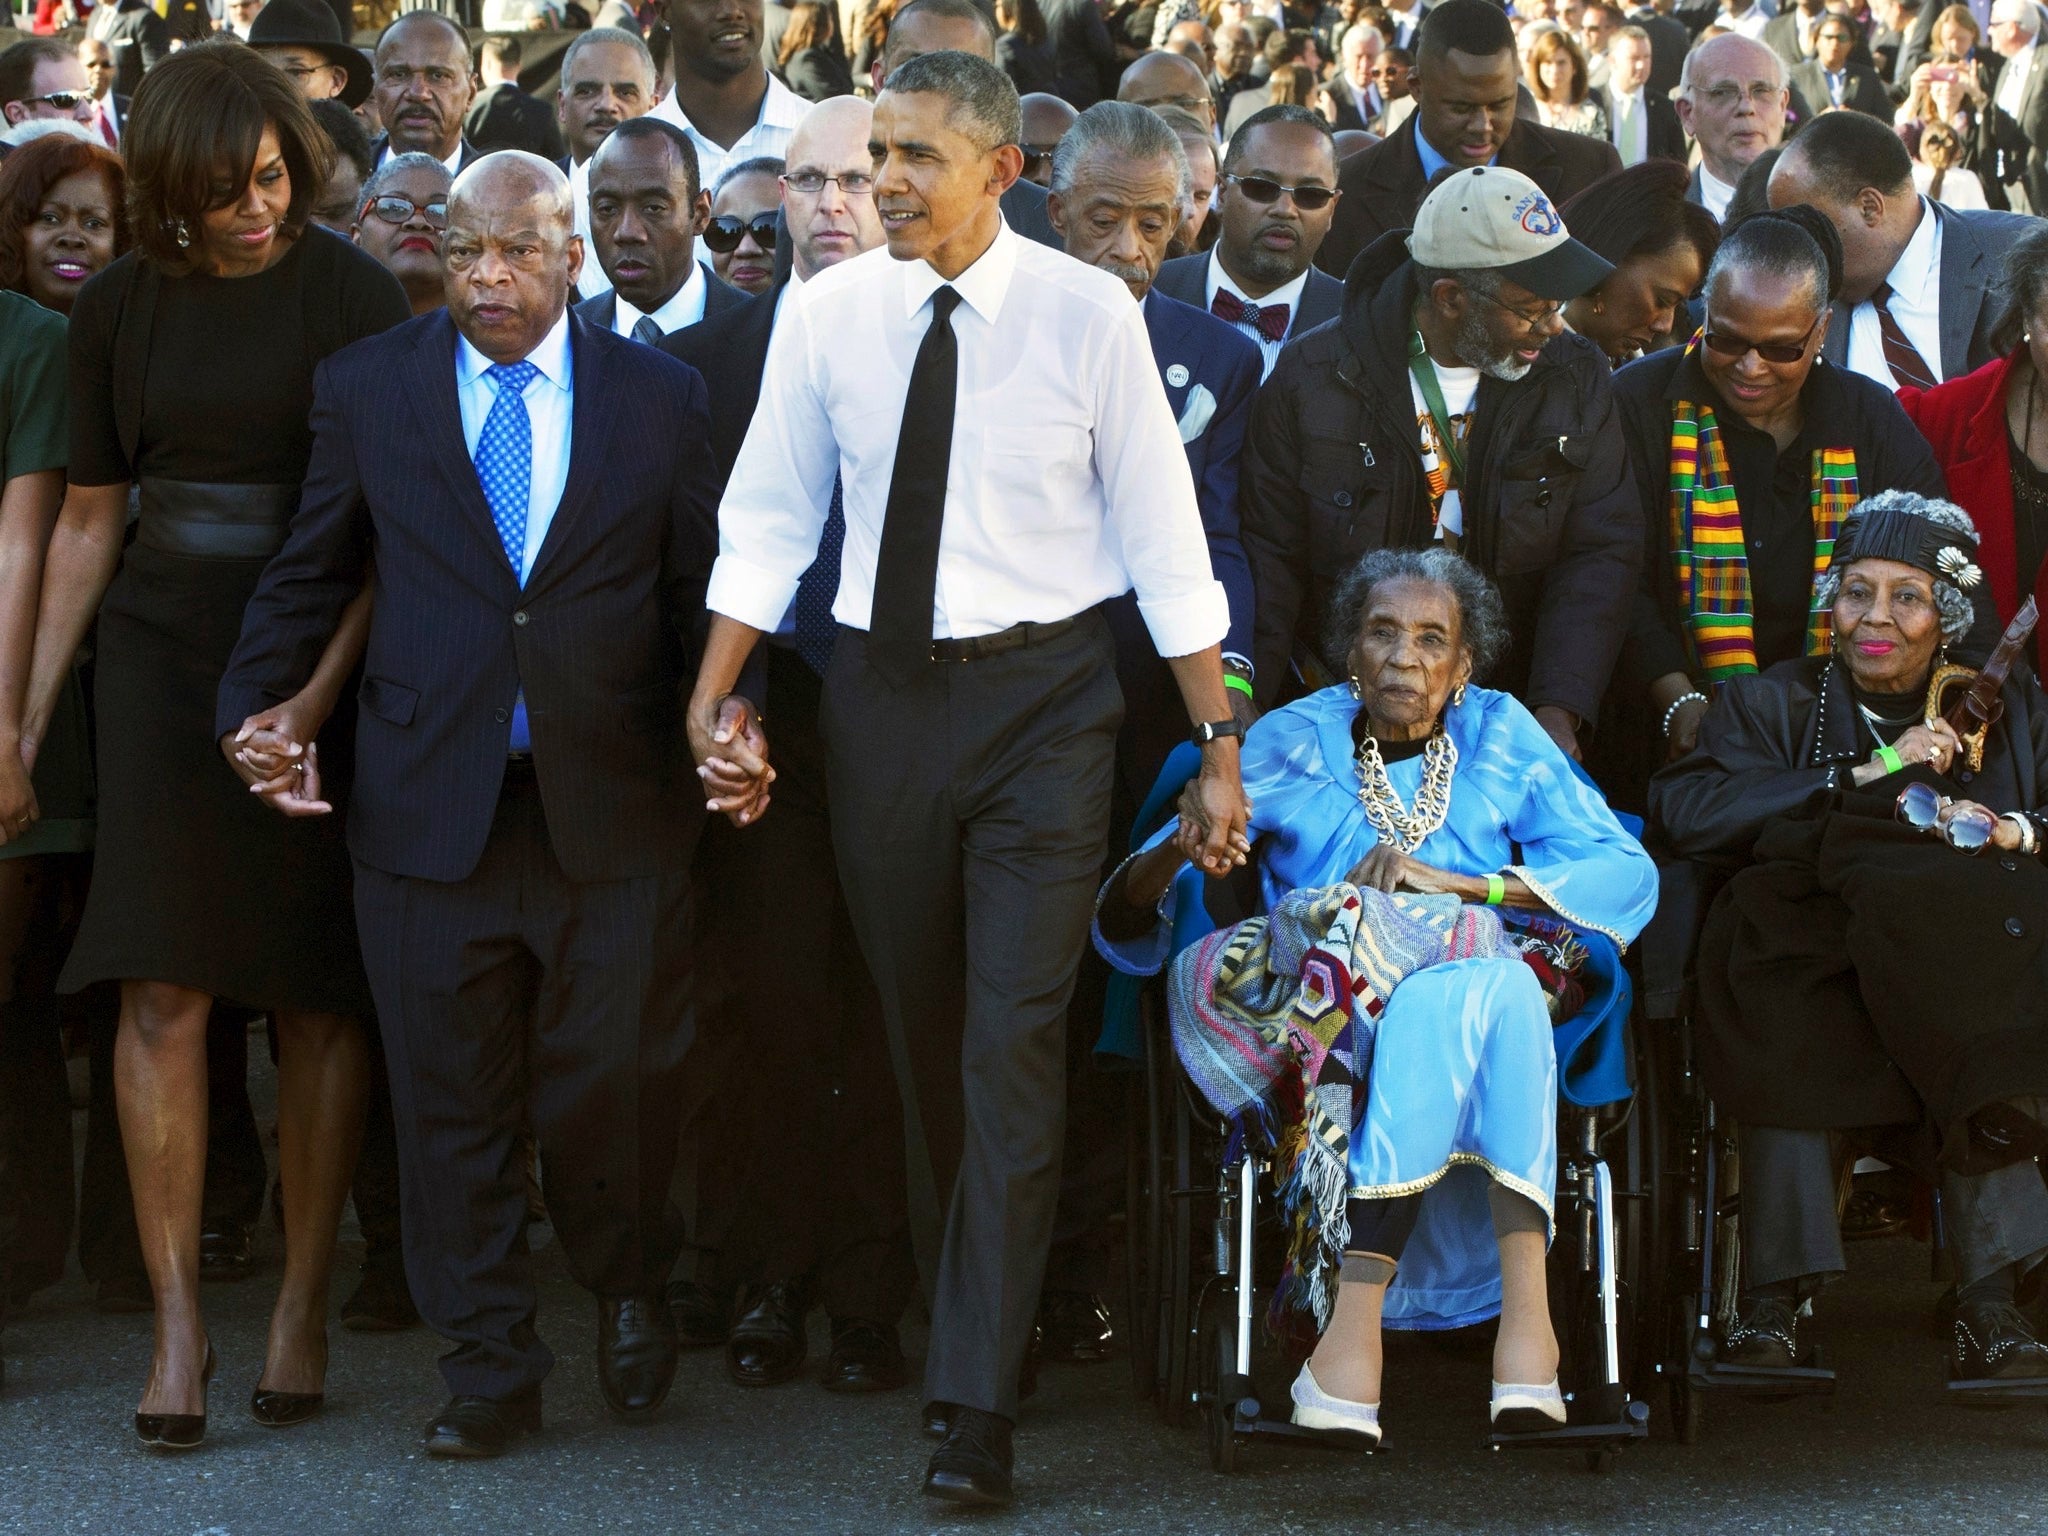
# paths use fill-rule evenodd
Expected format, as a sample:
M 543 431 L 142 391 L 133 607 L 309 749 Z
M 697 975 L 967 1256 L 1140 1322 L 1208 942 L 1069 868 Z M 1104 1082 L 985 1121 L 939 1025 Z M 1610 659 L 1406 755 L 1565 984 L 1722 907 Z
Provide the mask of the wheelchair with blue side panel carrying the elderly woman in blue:
M 1139 813 L 1137 840 L 1163 823 L 1192 766 L 1192 752 L 1167 762 Z M 1174 907 L 1176 950 L 1221 926 L 1206 911 L 1198 870 L 1182 872 Z M 1622 1448 L 1649 1436 L 1649 1403 L 1636 1391 L 1638 1290 L 1655 1268 L 1653 1212 L 1663 1202 L 1651 1184 L 1659 1120 L 1647 1112 L 1649 1079 L 1634 1059 L 1634 983 L 1608 940 L 1583 938 L 1589 995 L 1554 1036 L 1561 1104 L 1550 1311 L 1569 1417 L 1556 1430 L 1489 1434 L 1487 1444 L 1567 1450 L 1606 1473 Z M 1180 1069 L 1157 981 L 1120 983 L 1130 983 L 1122 1004 L 1137 1034 L 1124 1038 L 1124 1053 L 1143 1063 L 1126 1120 L 1124 1247 L 1139 1397 L 1167 1423 L 1196 1419 L 1219 1473 L 1235 1473 L 1255 1442 L 1374 1454 L 1358 1436 L 1290 1423 L 1286 1382 L 1298 1358 L 1260 1317 L 1284 1249 L 1270 1182 L 1262 1190 L 1268 1153 L 1225 1124 Z M 1386 1450 L 1384 1440 L 1378 1450 Z

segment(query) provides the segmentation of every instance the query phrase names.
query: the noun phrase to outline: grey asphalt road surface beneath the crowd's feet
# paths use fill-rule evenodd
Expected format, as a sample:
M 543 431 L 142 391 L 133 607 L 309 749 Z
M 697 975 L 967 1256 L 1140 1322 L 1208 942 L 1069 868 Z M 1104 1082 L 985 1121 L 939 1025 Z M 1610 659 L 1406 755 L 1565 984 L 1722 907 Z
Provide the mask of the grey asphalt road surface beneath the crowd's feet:
M 543 1233 L 545 1237 L 545 1233 Z M 606 1419 L 592 1303 L 541 1253 L 541 1331 L 559 1364 L 547 1430 L 500 1462 L 434 1462 L 418 1436 L 440 1405 L 436 1341 L 334 1333 L 330 1407 L 299 1430 L 246 1413 L 276 1282 L 276 1233 L 250 1280 L 207 1288 L 221 1370 L 207 1446 L 158 1458 L 129 1417 L 147 1317 L 100 1317 L 82 1282 L 8 1327 L 0 1393 L 0 1532 L 324 1536 L 326 1532 L 2025 1532 L 2048 1528 L 2048 1409 L 1970 1413 L 1939 1401 L 1937 1286 L 1905 1239 L 1851 1247 L 1823 1298 L 1841 1372 L 1833 1407 L 1708 1405 L 1702 1444 L 1655 1436 L 1608 1477 L 1577 1456 L 1483 1448 L 1487 1354 L 1405 1346 L 1391 1362 L 1376 1458 L 1255 1446 L 1237 1477 L 1194 1430 L 1133 1401 L 1124 1364 L 1057 1368 L 1018 1430 L 1018 1503 L 961 1518 L 918 1493 L 928 1442 L 915 1393 L 840 1399 L 813 1382 L 741 1391 L 696 1352 L 666 1415 Z M 356 1247 L 346 1247 L 352 1264 Z M 348 1276 L 336 1280 L 340 1300 Z M 911 1348 L 922 1335 L 911 1329 Z M 813 1352 L 823 1327 L 813 1331 Z

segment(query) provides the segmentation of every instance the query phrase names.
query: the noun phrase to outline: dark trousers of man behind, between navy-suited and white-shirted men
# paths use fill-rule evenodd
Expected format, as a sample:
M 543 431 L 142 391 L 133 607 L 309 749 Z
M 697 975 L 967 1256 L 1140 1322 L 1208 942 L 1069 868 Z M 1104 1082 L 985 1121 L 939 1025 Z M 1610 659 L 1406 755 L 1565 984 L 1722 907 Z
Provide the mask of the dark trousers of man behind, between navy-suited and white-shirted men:
M 766 649 L 774 805 L 752 827 L 711 821 L 696 860 L 688 1075 L 705 1061 L 711 1092 L 684 1133 L 702 1174 L 694 1229 L 715 1235 L 719 1294 L 801 1282 L 834 1319 L 893 1325 L 915 1284 L 903 1110 L 831 852 L 823 684 L 793 649 Z

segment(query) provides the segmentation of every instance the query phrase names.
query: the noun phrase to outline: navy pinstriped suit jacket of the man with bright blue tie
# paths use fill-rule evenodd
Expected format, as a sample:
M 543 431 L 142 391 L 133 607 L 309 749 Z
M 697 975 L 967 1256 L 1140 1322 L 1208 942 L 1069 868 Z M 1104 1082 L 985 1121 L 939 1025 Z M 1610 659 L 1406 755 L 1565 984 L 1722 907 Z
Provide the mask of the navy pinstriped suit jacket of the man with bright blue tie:
M 375 561 L 348 807 L 348 848 L 373 868 L 475 870 L 520 690 L 571 881 L 676 870 L 694 846 L 682 705 L 719 543 L 705 381 L 575 315 L 569 348 L 569 479 L 524 588 L 463 444 L 449 313 L 315 371 L 299 516 L 244 612 L 217 723 L 305 684 Z

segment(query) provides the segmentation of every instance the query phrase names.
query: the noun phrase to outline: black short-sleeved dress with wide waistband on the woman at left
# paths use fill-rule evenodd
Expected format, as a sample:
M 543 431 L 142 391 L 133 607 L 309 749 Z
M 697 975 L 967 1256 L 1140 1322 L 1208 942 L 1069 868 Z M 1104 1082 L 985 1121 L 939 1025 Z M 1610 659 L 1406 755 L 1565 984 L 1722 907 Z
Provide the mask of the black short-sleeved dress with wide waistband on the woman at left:
M 98 618 L 98 850 L 66 991 L 170 981 L 369 1014 L 342 805 L 287 819 L 250 795 L 213 702 L 297 510 L 313 369 L 408 313 L 389 272 L 319 227 L 256 276 L 166 276 L 131 252 L 78 295 L 70 477 L 135 481 L 141 514 Z M 328 799 L 350 719 L 319 739 Z

